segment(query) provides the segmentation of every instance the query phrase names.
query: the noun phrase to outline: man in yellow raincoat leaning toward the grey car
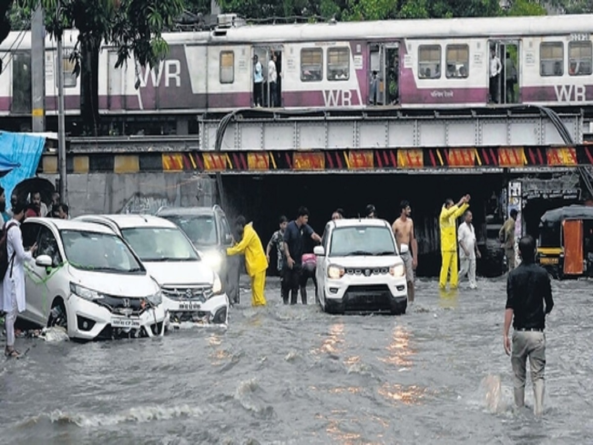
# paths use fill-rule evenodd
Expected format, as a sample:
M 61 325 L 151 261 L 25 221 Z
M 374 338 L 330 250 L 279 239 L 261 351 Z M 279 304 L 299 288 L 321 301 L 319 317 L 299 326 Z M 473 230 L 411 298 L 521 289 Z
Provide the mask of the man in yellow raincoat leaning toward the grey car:
M 246 224 L 243 216 L 237 217 L 235 226 L 238 233 L 242 234 L 241 241 L 235 246 L 227 248 L 227 255 L 245 253 L 245 267 L 251 277 L 251 305 L 266 306 L 263 295 L 266 287 L 266 252 L 263 250 L 262 240 L 253 229 L 253 222 Z

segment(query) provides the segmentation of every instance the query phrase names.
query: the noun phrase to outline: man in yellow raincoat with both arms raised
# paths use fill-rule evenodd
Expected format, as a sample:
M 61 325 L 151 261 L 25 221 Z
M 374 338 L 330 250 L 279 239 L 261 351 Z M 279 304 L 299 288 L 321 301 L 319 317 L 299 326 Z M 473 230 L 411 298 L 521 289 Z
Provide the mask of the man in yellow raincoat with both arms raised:
M 441 227 L 441 275 L 439 276 L 439 287 L 444 289 L 447 285 L 447 274 L 451 272 L 451 288 L 457 287 L 457 227 L 455 221 L 470 206 L 470 195 L 463 196 L 457 204 L 448 198 L 441 209 L 439 225 Z

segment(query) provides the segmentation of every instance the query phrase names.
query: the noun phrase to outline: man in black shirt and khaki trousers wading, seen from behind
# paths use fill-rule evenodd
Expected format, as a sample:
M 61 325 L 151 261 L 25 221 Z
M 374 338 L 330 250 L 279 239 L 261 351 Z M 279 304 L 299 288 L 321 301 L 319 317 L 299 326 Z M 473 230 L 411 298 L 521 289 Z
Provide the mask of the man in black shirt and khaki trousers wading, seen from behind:
M 525 400 L 526 362 L 529 357 L 534 392 L 534 412 L 541 415 L 544 403 L 544 368 L 546 367 L 546 315 L 554 306 L 550 276 L 535 264 L 535 241 L 524 236 L 519 241 L 521 265 L 506 279 L 506 309 L 503 344 L 511 355 L 514 373 L 515 405 Z M 508 332 L 513 322 L 512 348 Z

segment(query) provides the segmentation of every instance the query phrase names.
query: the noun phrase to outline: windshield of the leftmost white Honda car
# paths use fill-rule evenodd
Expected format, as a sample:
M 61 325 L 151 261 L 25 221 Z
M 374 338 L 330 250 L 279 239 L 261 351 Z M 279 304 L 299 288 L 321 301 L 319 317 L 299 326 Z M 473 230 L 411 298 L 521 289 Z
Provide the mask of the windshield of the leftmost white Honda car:
M 114 234 L 62 230 L 68 262 L 76 269 L 102 272 L 144 272 L 123 240 Z

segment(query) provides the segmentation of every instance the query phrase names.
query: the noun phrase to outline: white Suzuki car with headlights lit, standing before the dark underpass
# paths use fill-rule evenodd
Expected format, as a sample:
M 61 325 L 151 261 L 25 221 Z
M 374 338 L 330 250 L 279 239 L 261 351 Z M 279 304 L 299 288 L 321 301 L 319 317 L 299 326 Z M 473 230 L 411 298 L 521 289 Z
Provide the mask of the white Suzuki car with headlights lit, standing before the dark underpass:
M 314 253 L 324 311 L 406 312 L 406 272 L 387 221 L 330 221 Z

